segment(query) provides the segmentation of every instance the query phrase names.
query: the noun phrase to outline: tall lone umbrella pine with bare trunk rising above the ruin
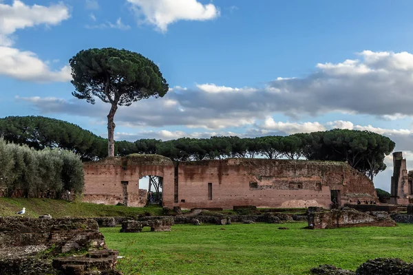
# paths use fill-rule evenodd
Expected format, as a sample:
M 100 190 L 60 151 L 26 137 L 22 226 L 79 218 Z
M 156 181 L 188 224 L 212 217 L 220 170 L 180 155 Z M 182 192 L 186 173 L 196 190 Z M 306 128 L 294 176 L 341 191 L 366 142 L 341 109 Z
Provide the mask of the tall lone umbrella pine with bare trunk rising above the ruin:
M 114 156 L 114 116 L 118 106 L 167 94 L 167 80 L 151 60 L 112 47 L 81 50 L 70 59 L 73 96 L 94 104 L 95 98 L 110 103 L 107 115 L 108 155 Z

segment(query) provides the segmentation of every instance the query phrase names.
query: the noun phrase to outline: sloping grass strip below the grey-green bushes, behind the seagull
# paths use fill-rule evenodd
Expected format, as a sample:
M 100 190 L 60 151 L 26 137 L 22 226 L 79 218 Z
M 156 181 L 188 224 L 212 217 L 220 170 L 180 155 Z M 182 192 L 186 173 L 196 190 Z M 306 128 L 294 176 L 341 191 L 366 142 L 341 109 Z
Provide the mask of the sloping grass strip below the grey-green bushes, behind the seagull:
M 136 214 L 160 215 L 163 213 L 160 206 L 145 208 L 126 206 L 105 206 L 94 203 L 64 201 L 59 199 L 13 199 L 0 197 L 0 217 L 17 216 L 16 212 L 26 208 L 25 217 L 39 217 L 42 214 L 51 214 L 54 218 L 72 217 L 116 217 Z

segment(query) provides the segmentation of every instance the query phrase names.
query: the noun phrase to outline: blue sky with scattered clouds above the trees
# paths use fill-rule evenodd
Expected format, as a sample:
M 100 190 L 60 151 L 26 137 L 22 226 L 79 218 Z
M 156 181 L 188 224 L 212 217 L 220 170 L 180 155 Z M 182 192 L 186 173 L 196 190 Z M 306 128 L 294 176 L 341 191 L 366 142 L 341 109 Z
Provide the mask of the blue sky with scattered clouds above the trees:
M 118 109 L 115 139 L 390 137 L 413 169 L 413 1 L 0 0 L 0 117 L 44 115 L 107 137 L 109 105 L 72 96 L 80 50 L 151 59 L 163 98 Z M 388 168 L 374 179 L 390 190 Z

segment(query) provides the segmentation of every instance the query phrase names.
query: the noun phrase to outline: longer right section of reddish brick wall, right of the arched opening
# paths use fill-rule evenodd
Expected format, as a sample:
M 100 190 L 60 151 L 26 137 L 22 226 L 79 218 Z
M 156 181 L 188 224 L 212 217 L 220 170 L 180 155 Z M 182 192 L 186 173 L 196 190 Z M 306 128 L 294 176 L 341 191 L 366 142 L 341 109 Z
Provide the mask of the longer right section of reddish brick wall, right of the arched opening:
M 372 181 L 343 162 L 224 159 L 180 162 L 178 200 L 164 199 L 164 205 L 329 208 L 331 190 L 338 190 L 341 204 L 377 200 Z

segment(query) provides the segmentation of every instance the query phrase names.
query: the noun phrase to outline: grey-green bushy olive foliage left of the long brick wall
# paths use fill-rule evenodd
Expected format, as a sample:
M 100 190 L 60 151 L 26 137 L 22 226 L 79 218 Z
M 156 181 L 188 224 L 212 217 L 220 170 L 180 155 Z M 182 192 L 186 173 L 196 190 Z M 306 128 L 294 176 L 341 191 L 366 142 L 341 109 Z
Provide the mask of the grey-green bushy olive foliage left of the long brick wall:
M 56 194 L 83 190 L 83 164 L 71 151 L 36 151 L 0 138 L 0 155 L 0 188 L 6 188 L 9 197 L 16 196 L 17 190 L 18 197 L 39 197 L 46 190 Z

